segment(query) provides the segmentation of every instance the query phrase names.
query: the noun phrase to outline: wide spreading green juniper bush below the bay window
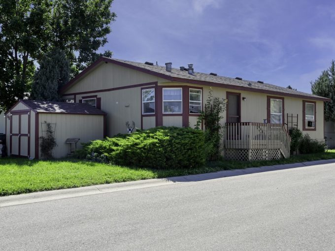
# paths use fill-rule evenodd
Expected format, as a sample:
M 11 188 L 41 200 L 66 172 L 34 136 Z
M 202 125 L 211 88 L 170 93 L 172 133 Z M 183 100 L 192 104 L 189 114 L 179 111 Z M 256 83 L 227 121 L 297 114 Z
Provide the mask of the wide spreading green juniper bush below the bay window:
M 84 150 L 92 159 L 157 169 L 195 168 L 205 162 L 204 134 L 192 128 L 156 127 L 136 131 L 92 141 Z

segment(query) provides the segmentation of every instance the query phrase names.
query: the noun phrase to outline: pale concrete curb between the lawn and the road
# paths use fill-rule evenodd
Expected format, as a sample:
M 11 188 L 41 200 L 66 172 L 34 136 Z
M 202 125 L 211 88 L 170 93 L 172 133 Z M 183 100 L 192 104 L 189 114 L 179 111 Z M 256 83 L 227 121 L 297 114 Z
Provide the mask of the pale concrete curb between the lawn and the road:
M 335 163 L 335 159 L 324 159 L 316 160 L 302 163 L 292 163 L 292 164 L 282 164 L 282 165 L 273 165 L 273 166 L 261 166 L 261 167 L 250 167 L 246 169 L 234 169 L 234 170 L 225 170 L 215 173 L 204 173 L 204 174 L 195 174 L 195 175 L 185 175 L 177 177 L 168 177 L 164 179 L 150 179 L 150 180 L 140 180 L 140 181 L 131 181 L 123 183 L 113 183 L 113 184 L 103 184 L 90 187 L 81 187 L 81 188 L 68 188 L 60 190 L 51 190 L 51 191 L 42 191 L 42 192 L 33 192 L 25 193 L 18 195 L 9 195 L 0 197 L 0 208 L 30 204 L 42 201 L 50 201 L 57 199 L 73 198 L 108 192 L 124 191 L 138 188 L 150 188 L 165 186 L 175 183 L 184 183 L 184 182 L 197 182 L 211 179 L 218 179 L 224 177 L 232 177 L 245 174 L 253 174 L 260 172 L 276 171 L 297 167 L 306 167 L 320 164 L 330 164 Z

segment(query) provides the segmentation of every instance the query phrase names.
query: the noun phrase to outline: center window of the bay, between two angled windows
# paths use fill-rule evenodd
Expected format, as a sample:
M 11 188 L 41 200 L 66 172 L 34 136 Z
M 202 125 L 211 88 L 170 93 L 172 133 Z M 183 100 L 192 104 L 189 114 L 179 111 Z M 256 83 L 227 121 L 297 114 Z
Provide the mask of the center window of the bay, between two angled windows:
M 182 113 L 181 88 L 163 88 L 163 113 Z

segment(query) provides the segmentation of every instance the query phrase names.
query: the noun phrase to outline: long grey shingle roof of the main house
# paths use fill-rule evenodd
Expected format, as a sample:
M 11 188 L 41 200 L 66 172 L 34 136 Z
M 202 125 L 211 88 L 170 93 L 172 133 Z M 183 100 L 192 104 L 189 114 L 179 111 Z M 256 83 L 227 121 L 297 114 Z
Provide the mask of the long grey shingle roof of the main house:
M 108 58 L 109 59 L 109 58 Z M 190 80 L 192 81 L 203 81 L 203 82 L 209 82 L 209 83 L 215 83 L 215 84 L 222 84 L 222 85 L 230 85 L 233 87 L 237 88 L 243 88 L 243 90 L 249 90 L 253 92 L 262 92 L 262 91 L 268 91 L 268 92 L 276 92 L 276 93 L 282 93 L 282 95 L 297 95 L 297 96 L 304 96 L 306 98 L 310 97 L 311 99 L 324 99 L 326 98 L 313 95 L 313 94 L 308 94 L 308 93 L 303 93 L 299 91 L 295 91 L 292 89 L 276 86 L 276 85 L 271 85 L 267 83 L 258 83 L 255 81 L 251 80 L 237 80 L 234 78 L 230 77 L 224 77 L 224 76 L 213 76 L 207 73 L 201 73 L 201 72 L 194 72 L 194 75 L 188 74 L 187 71 L 182 71 L 179 68 L 172 68 L 171 72 L 166 71 L 165 66 L 159 66 L 159 65 L 148 65 L 145 63 L 137 63 L 137 62 L 132 62 L 132 61 L 126 61 L 126 60 L 120 60 L 120 59 L 109 59 L 111 61 L 117 61 L 120 63 L 125 63 L 129 64 L 135 67 L 139 67 L 142 69 L 146 69 L 149 71 L 152 71 L 154 73 L 159 73 L 168 77 L 172 78 L 180 78 L 184 80 Z M 250 85 L 251 84 L 251 85 Z

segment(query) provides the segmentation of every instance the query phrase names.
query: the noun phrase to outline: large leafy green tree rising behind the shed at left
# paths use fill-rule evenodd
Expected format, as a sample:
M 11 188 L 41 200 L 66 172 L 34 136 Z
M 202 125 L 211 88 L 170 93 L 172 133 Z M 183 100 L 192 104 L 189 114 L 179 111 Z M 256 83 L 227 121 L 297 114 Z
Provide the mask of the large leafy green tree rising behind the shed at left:
M 106 42 L 113 0 L 0 0 L 0 110 L 29 96 L 35 63 L 64 50 L 71 76 L 94 62 Z

